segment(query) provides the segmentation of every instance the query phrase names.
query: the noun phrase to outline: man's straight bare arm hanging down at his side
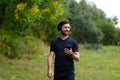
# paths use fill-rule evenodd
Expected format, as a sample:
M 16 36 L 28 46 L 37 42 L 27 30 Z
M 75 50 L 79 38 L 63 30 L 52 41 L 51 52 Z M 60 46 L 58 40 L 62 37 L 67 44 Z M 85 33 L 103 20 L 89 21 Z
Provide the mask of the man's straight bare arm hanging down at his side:
M 49 78 L 52 78 L 53 76 L 53 71 L 52 71 L 53 56 L 54 56 L 54 51 L 50 51 L 49 56 L 48 56 L 48 73 L 47 73 L 47 76 Z

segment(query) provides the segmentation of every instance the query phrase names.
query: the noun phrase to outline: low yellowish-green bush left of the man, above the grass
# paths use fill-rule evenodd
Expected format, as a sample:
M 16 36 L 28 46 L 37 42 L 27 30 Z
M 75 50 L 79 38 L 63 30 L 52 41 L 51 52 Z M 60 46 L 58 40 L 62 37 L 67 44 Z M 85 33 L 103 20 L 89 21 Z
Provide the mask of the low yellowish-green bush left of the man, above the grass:
M 5 44 L 4 44 L 5 45 Z M 10 46 L 6 45 L 0 49 L 3 49 L 2 53 L 9 58 L 22 58 L 30 55 L 29 58 L 33 58 L 34 55 L 37 54 L 45 54 L 45 48 L 47 46 L 38 38 L 33 36 L 25 36 L 23 38 L 16 38 L 12 41 Z M 5 52 L 5 50 L 7 50 Z M 1 50 L 0 50 L 1 51 Z M 26 56 L 27 56 L 26 55 Z

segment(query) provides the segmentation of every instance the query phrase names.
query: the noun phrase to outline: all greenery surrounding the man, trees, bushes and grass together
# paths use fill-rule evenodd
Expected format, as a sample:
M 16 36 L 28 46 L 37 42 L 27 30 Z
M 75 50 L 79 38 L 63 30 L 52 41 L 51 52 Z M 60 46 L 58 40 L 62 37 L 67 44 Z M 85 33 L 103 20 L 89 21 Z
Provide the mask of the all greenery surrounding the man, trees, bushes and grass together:
M 0 0 L 0 80 L 49 80 L 49 43 L 64 19 L 80 44 L 76 80 L 118 80 L 118 18 L 87 0 Z

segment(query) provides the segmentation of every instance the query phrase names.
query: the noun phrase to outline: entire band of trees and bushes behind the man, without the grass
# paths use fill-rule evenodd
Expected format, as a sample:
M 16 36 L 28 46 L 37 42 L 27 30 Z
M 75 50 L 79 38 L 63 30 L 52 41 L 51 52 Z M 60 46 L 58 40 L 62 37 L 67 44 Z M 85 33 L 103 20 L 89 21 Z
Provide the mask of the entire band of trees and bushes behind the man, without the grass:
M 98 48 L 120 44 L 117 16 L 107 18 L 86 0 L 1 0 L 0 54 L 15 58 L 19 53 L 36 53 L 36 41 L 49 45 L 58 37 L 56 26 L 63 19 L 71 22 L 70 35 L 80 44 Z

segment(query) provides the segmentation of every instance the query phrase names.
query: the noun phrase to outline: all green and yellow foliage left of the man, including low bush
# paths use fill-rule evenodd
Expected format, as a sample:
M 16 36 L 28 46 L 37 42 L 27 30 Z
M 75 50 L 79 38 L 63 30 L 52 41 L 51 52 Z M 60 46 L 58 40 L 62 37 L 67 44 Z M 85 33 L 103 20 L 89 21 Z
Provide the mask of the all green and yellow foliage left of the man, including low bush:
M 48 43 L 57 37 L 56 24 L 66 13 L 61 0 L 2 0 L 0 11 L 0 47 L 11 58 L 21 53 L 37 53 L 34 41 L 38 38 Z M 26 44 L 31 40 L 28 36 L 34 41 Z

